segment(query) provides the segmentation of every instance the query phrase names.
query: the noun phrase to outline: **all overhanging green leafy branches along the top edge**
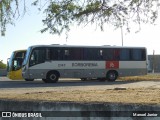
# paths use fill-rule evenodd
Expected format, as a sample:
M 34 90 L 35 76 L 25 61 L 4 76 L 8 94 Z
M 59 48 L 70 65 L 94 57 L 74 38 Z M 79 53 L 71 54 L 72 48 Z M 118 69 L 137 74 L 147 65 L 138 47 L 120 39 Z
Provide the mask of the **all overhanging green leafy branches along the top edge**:
M 24 2 L 25 8 L 25 0 Z M 0 0 L 0 29 L 4 35 L 7 24 L 13 24 L 19 14 L 19 0 Z M 44 3 L 42 5 L 41 3 Z M 70 26 L 96 24 L 103 30 L 105 23 L 116 28 L 130 23 L 154 23 L 158 17 L 159 0 L 36 0 L 33 5 L 42 10 L 45 6 L 45 28 L 41 32 L 52 34 L 68 32 Z M 13 7 L 14 6 L 14 7 Z M 25 9 L 24 9 L 25 11 Z

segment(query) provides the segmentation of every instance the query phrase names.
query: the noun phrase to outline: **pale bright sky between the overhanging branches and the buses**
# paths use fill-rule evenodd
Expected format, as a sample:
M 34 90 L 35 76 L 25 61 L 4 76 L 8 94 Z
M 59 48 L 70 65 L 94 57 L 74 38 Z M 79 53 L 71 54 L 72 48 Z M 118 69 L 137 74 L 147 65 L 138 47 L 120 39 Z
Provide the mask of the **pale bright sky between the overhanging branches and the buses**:
M 4 37 L 0 36 L 0 60 L 7 63 L 7 58 L 15 50 L 27 49 L 31 45 L 67 44 L 67 45 L 111 45 L 122 46 L 121 29 L 114 29 L 111 25 L 105 25 L 104 31 L 95 29 L 94 25 L 72 26 L 68 33 L 68 39 L 63 33 L 61 36 L 41 33 L 44 27 L 42 19 L 44 15 L 36 7 L 29 7 L 25 16 L 15 20 L 15 25 L 8 25 Z M 123 29 L 123 45 L 134 47 L 146 47 L 148 54 L 160 54 L 160 20 L 157 25 L 142 24 L 141 31 L 138 25 L 132 25 L 132 30 L 127 33 Z

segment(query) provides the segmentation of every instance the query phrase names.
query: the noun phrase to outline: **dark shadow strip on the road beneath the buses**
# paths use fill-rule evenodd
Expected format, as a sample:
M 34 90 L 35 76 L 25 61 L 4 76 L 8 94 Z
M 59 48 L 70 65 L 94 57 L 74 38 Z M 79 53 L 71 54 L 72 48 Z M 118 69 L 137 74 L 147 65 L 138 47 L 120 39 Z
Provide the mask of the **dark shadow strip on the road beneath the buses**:
M 123 86 L 131 83 L 138 83 L 141 81 L 122 81 L 117 80 L 115 82 L 108 81 L 98 81 L 98 80 L 59 80 L 57 83 L 44 83 L 42 80 L 34 80 L 34 81 L 24 81 L 24 80 L 0 80 L 0 89 L 2 88 L 38 88 L 38 87 L 85 87 L 85 86 L 105 86 L 112 87 L 115 86 Z

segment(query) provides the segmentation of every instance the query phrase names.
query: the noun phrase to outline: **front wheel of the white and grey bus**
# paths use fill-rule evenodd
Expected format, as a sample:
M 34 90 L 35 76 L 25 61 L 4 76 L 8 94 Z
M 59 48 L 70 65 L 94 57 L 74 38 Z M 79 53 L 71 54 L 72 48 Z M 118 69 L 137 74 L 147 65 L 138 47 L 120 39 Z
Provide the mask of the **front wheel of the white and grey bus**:
M 56 83 L 59 79 L 59 74 L 58 72 L 51 71 L 47 73 L 47 79 L 43 80 L 46 83 Z

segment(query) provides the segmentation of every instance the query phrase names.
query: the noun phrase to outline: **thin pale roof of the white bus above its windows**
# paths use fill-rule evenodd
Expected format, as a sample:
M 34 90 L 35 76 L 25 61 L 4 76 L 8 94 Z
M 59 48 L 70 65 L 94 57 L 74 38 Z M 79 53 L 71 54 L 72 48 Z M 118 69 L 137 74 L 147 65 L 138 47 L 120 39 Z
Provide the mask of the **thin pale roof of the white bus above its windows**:
M 141 48 L 146 49 L 146 47 L 134 47 L 134 46 L 110 46 L 110 45 L 102 45 L 102 46 L 91 46 L 91 45 L 58 45 L 58 44 L 52 44 L 52 45 L 32 45 L 31 48 L 35 47 L 69 47 L 69 48 Z

